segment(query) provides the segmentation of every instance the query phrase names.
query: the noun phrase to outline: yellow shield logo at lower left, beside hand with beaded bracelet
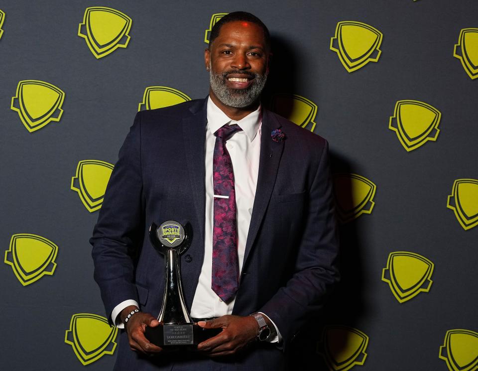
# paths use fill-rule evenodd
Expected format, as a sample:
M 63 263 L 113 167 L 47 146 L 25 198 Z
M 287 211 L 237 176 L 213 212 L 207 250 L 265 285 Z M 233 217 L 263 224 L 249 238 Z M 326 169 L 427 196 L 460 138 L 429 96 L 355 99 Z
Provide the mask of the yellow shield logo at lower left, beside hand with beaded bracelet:
M 71 317 L 65 343 L 71 345 L 76 357 L 86 366 L 115 352 L 117 334 L 118 328 L 111 327 L 105 317 L 78 313 Z

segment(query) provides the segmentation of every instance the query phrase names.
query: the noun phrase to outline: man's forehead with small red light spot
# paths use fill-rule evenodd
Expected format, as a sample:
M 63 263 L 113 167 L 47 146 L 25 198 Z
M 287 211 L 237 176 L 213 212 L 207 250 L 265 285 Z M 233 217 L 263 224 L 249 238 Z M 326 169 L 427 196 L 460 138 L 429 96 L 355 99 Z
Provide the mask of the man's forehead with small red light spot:
M 252 22 L 228 22 L 221 27 L 218 37 L 213 41 L 213 46 L 223 43 L 245 43 L 265 48 L 264 32 L 259 25 Z

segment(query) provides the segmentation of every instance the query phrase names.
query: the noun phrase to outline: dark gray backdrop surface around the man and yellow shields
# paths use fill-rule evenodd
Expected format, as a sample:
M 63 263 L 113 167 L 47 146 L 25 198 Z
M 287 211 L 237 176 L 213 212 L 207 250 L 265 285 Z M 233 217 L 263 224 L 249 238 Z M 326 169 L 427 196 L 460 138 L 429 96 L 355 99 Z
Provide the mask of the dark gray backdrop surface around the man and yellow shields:
M 126 48 L 95 58 L 77 35 L 89 6 L 111 7 L 132 19 Z M 326 370 L 316 344 L 322 325 L 331 324 L 368 337 L 366 360 L 352 364 L 354 370 L 453 370 L 439 358 L 447 331 L 478 331 L 478 228 L 466 231 L 447 208 L 455 180 L 478 179 L 478 81 L 453 56 L 461 29 L 478 27 L 476 0 L 246 0 L 240 6 L 4 0 L 0 9 L 0 247 L 8 251 L 15 234 L 42 236 L 58 246 L 53 275 L 31 284 L 22 285 L 10 264 L 1 266 L 3 370 L 85 368 L 65 343 L 65 332 L 74 314 L 106 314 L 88 243 L 98 212 L 83 206 L 70 189 L 71 178 L 80 160 L 116 162 L 146 87 L 206 96 L 205 30 L 213 13 L 235 10 L 259 16 L 273 37 L 265 103 L 275 93 L 315 103 L 314 132 L 330 142 L 333 172 L 359 174 L 376 185 L 371 213 L 341 227 L 343 281 L 318 314 L 313 340 L 302 348 L 307 361 L 301 362 Z M 352 73 L 330 50 L 336 25 L 345 20 L 383 34 L 378 61 Z M 477 44 L 469 47 L 478 53 Z M 26 130 L 10 109 L 22 80 L 65 92 L 59 122 Z M 388 128 L 399 100 L 425 102 L 441 112 L 436 141 L 404 149 Z M 468 199 L 477 210 L 478 193 Z M 393 251 L 434 263 L 429 292 L 397 301 L 381 280 Z M 469 346 L 465 353 L 473 360 L 478 349 L 472 344 L 455 349 Z M 104 355 L 86 367 L 111 369 L 115 357 Z

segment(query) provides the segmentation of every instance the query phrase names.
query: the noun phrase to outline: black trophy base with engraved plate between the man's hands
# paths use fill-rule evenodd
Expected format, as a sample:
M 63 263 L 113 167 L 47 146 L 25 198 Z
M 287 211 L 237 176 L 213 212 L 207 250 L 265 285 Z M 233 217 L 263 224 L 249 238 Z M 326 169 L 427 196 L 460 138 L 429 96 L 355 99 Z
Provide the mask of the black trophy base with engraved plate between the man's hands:
M 196 323 L 184 325 L 159 325 L 146 327 L 144 335 L 152 344 L 161 348 L 173 350 L 190 348 L 195 350 L 197 345 L 213 336 L 218 335 L 222 329 L 203 329 Z

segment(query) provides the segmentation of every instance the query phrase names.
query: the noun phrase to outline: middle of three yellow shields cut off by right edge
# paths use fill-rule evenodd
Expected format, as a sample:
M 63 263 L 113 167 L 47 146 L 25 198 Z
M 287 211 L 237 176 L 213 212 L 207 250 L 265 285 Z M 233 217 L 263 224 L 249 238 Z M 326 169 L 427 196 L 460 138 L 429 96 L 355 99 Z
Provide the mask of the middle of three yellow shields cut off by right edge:
M 457 179 L 447 207 L 455 212 L 465 231 L 478 225 L 478 179 Z

